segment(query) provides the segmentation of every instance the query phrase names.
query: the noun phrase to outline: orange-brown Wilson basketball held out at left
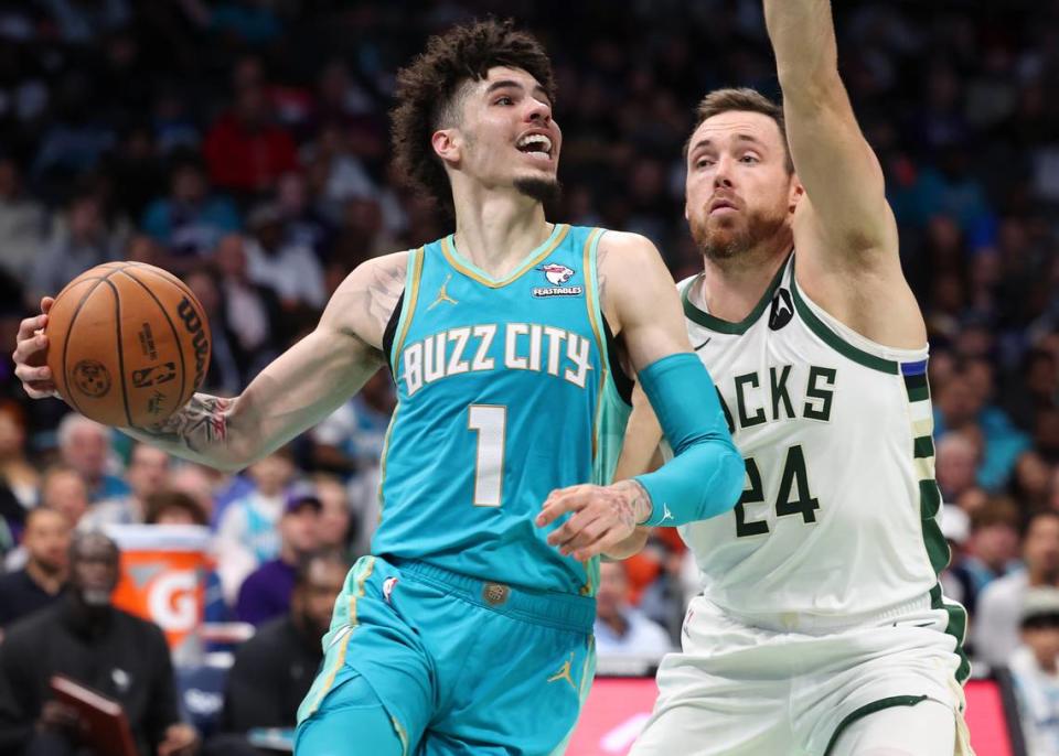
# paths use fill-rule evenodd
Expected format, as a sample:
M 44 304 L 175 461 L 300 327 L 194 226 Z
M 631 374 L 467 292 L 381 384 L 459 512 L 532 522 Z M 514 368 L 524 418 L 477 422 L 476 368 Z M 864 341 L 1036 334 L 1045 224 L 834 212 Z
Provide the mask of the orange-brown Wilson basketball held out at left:
M 172 273 L 139 262 L 108 262 L 71 281 L 55 298 L 45 334 L 58 393 L 107 425 L 165 420 L 210 366 L 199 300 Z

